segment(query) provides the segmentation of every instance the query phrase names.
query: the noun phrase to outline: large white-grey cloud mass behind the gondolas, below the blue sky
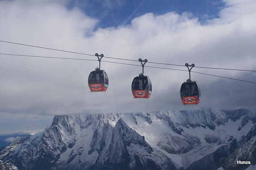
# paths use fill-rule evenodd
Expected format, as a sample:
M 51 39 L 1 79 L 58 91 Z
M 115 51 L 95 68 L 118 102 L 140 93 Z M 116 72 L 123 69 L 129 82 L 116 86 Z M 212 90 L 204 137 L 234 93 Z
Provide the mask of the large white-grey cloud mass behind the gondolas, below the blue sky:
M 4 23 L 0 25 L 0 37 L 6 41 L 87 54 L 98 52 L 110 57 L 255 69 L 256 23 L 252 21 L 256 19 L 253 10 L 256 3 L 227 1 L 227 4 L 221 10 L 220 18 L 209 20 L 206 25 L 201 25 L 189 13 L 148 13 L 134 18 L 130 25 L 93 31 L 97 20 L 85 16 L 77 8 L 68 10 L 63 4 L 52 1 L 0 1 L 0 20 Z M 92 59 L 4 43 L 0 43 L 0 52 Z M 106 93 L 89 93 L 88 75 L 97 67 L 97 62 L 11 56 L 0 56 L 0 60 L 1 112 L 37 115 L 184 109 L 178 91 L 188 77 L 187 72 L 145 68 L 145 74 L 150 75 L 153 84 L 151 98 L 134 100 L 131 81 L 141 72 L 140 67 L 102 62 L 102 68 L 109 75 L 109 88 Z M 193 68 L 193 71 L 240 79 L 245 76 L 244 72 L 234 71 L 199 68 Z M 198 80 L 201 87 L 211 88 L 220 81 L 220 78 L 193 73 L 192 79 Z M 230 89 L 230 84 L 236 85 L 233 81 L 230 84 L 231 81 L 221 82 L 226 89 Z M 254 86 L 242 85 L 253 91 Z M 203 107 L 212 106 L 210 101 L 215 99 L 207 93 L 202 91 Z M 219 99 L 214 104 L 222 107 L 227 101 L 226 96 L 218 91 L 215 94 Z M 243 102 L 248 106 L 247 101 Z M 236 106 L 237 102 L 231 100 L 229 104 Z

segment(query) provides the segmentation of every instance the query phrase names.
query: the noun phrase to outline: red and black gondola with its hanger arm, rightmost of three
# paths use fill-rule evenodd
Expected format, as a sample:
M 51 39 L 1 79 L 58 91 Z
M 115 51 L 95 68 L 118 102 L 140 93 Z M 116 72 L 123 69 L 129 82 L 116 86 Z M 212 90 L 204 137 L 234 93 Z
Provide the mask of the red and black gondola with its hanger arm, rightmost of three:
M 195 65 L 188 65 L 186 63 L 185 66 L 187 66 L 187 68 L 190 66 L 191 68 L 188 68 L 189 79 L 187 79 L 187 82 L 184 82 L 180 88 L 181 101 L 183 105 L 198 105 L 201 95 L 200 88 L 196 81 L 191 81 L 190 79 L 190 71 Z

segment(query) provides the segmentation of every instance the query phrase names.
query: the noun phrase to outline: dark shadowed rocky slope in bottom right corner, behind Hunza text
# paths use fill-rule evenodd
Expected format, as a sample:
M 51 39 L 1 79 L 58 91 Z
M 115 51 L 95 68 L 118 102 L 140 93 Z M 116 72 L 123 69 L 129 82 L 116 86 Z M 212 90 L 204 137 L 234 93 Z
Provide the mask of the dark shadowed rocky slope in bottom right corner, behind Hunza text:
M 243 139 L 233 141 L 229 145 L 221 146 L 215 152 L 192 163 L 186 170 L 216 170 L 223 167 L 224 170 L 243 170 L 249 164 L 237 164 L 237 160 L 256 163 L 256 125 Z

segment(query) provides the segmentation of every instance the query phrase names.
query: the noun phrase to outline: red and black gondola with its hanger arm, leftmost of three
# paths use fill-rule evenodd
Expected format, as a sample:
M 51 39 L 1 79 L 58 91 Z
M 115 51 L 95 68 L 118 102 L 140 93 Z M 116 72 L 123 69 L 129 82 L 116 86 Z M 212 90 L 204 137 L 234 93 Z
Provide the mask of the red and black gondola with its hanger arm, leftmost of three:
M 96 53 L 95 56 L 98 57 L 99 68 L 97 67 L 95 71 L 92 71 L 88 77 L 88 85 L 91 92 L 105 92 L 108 88 L 108 75 L 104 70 L 101 70 L 101 59 L 104 57 L 103 54 L 99 55 Z

